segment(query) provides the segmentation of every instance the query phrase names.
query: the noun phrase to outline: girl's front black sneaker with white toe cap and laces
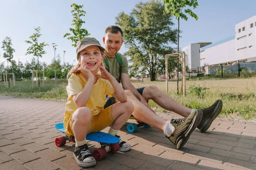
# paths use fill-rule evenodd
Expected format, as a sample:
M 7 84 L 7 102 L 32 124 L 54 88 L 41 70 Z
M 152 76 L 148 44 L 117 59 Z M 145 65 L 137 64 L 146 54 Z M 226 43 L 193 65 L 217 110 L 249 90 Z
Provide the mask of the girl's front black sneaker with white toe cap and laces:
M 90 153 L 90 150 L 87 144 L 84 144 L 79 147 L 75 147 L 75 152 L 73 156 L 76 159 L 76 163 L 80 167 L 91 167 L 93 165 L 96 165 L 96 159 Z

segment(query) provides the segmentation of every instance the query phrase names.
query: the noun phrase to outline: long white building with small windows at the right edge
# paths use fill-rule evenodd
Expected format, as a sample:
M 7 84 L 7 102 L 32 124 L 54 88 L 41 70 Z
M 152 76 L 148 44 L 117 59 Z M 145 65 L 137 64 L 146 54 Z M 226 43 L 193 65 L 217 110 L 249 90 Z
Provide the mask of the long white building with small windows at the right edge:
M 235 26 L 236 34 L 201 48 L 201 67 L 256 61 L 256 16 Z

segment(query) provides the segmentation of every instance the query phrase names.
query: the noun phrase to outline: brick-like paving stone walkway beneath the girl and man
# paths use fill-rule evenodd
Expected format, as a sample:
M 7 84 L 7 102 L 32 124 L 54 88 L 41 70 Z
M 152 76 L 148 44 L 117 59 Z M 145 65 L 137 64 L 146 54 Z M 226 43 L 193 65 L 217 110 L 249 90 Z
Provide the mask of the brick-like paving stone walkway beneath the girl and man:
M 81 170 L 73 159 L 75 143 L 55 145 L 63 133 L 54 125 L 64 118 L 65 102 L 0 96 L 0 170 Z M 172 119 L 175 113 L 157 113 Z M 134 122 L 129 120 L 128 122 Z M 206 133 L 195 130 L 182 150 L 154 127 L 128 133 L 128 152 L 108 153 L 89 170 L 256 170 L 256 123 L 216 119 Z M 103 130 L 108 132 L 109 128 Z M 88 142 L 93 151 L 99 144 Z

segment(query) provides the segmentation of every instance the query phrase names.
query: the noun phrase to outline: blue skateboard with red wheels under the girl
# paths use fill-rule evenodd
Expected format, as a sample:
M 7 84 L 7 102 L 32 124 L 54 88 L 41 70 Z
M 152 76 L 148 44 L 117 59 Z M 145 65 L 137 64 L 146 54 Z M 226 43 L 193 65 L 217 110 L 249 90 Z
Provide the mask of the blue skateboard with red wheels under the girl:
M 58 123 L 55 125 L 58 131 L 65 133 L 63 123 Z M 66 133 L 65 133 L 66 134 Z M 66 142 L 75 142 L 75 136 L 61 136 L 55 139 L 55 144 L 58 147 L 63 146 Z M 108 133 L 97 132 L 90 133 L 86 136 L 86 140 L 99 142 L 101 147 L 93 151 L 93 157 L 99 161 L 107 156 L 107 152 L 116 153 L 119 150 L 118 142 L 120 139 L 116 136 L 110 135 Z

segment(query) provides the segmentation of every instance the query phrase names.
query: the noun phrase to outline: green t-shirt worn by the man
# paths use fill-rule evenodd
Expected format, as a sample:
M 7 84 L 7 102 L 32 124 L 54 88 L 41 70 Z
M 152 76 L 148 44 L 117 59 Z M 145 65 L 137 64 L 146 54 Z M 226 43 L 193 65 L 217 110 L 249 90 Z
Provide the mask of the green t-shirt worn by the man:
M 125 56 L 123 56 L 122 54 L 120 54 L 120 57 L 122 59 L 122 69 L 121 69 L 121 73 L 126 73 L 128 74 L 128 61 L 127 58 Z M 109 68 L 109 73 L 115 77 L 116 81 L 118 82 L 119 79 L 119 64 L 118 61 L 116 59 L 116 56 L 113 58 L 108 57 L 106 54 L 104 54 L 105 59 L 108 62 L 108 68 Z

